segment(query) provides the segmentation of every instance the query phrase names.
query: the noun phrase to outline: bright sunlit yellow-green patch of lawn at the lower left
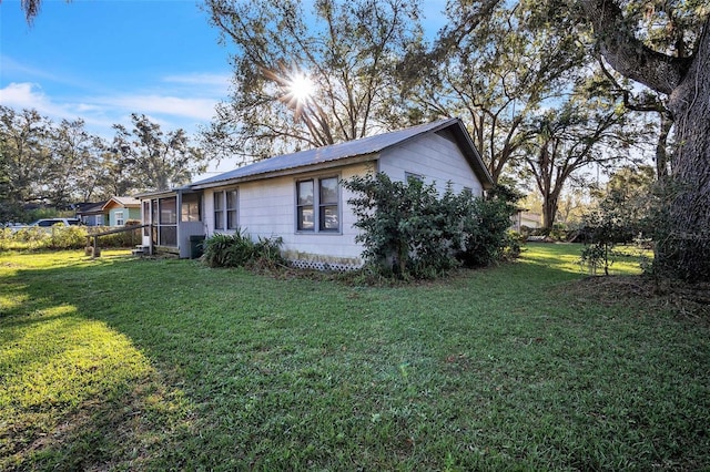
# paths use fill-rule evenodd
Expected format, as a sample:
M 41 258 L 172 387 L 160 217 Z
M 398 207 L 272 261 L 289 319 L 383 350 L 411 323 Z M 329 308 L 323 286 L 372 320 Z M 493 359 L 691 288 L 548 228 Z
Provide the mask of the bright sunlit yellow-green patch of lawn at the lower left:
M 0 271 L 1 470 L 160 468 L 191 434 L 184 393 L 75 284 L 119 263 Z

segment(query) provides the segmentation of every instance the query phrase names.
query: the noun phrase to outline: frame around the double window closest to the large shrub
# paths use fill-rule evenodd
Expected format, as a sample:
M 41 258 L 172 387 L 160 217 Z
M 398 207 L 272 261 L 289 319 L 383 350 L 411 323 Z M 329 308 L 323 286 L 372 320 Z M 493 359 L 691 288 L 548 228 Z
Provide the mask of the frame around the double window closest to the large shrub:
M 324 181 L 336 181 L 336 202 L 322 202 L 322 183 Z M 300 191 L 301 185 L 305 183 L 312 183 L 313 185 L 313 202 L 302 203 L 300 202 Z M 337 228 L 326 228 L 326 222 L 324 218 L 325 212 L 327 208 L 335 207 L 335 213 L 337 217 Z M 302 227 L 302 218 L 303 209 L 311 209 L 313 215 L 313 227 L 304 228 Z M 313 176 L 313 177 L 304 177 L 298 178 L 295 182 L 295 215 L 294 215 L 294 227 L 296 234 L 323 234 L 323 235 L 339 235 L 343 234 L 343 204 L 341 196 L 341 177 L 339 175 L 322 175 L 322 176 Z

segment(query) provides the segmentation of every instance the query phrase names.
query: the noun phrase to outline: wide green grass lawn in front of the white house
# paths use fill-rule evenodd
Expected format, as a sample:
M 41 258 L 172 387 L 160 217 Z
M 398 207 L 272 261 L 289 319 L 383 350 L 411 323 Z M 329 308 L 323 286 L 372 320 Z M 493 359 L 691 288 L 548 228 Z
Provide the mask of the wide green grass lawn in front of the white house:
M 4 253 L 0 470 L 709 468 L 710 327 L 578 254 L 388 288 Z

